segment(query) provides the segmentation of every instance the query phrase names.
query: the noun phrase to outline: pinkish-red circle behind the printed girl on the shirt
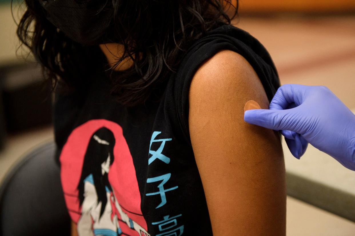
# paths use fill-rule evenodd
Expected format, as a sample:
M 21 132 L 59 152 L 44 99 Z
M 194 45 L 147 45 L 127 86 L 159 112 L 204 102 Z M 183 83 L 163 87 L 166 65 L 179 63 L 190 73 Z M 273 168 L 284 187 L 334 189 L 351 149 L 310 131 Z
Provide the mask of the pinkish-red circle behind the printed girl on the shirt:
M 147 223 L 141 211 L 141 195 L 136 171 L 122 128 L 117 123 L 105 119 L 90 120 L 75 128 L 68 137 L 60 154 L 61 183 L 70 217 L 77 223 L 81 216 L 77 186 L 81 176 L 84 156 L 91 137 L 95 131 L 102 127 L 109 129 L 115 138 L 114 162 L 108 173 L 111 188 L 122 211 L 130 219 L 147 229 Z M 122 231 L 129 232 L 132 235 L 135 233 L 140 235 L 137 231 L 132 231 L 126 226 L 122 228 Z

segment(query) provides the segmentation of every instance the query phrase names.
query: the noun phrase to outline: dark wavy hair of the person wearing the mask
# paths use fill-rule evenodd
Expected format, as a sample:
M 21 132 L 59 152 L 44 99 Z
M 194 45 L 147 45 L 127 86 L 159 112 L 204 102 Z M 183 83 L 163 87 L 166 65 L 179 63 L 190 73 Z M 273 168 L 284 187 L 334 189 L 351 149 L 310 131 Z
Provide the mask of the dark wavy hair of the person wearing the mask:
M 105 71 L 111 71 L 110 93 L 124 105 L 144 103 L 161 92 L 159 87 L 176 72 L 193 42 L 221 24 L 230 24 L 238 8 L 237 0 L 235 4 L 229 0 L 107 1 L 112 1 L 116 42 L 123 45 L 124 52 Z M 53 86 L 63 80 L 75 90 L 85 90 L 98 65 L 108 65 L 99 46 L 71 40 L 45 18 L 40 1 L 24 2 L 27 10 L 17 36 L 42 65 L 44 77 Z M 132 59 L 132 67 L 115 76 L 113 69 L 127 58 Z

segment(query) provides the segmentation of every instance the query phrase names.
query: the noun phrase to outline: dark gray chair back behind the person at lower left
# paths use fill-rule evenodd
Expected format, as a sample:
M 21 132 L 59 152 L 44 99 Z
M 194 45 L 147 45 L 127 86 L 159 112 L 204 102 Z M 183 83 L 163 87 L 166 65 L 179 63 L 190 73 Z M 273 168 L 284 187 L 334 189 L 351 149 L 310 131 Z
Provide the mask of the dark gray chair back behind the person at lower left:
M 70 235 L 70 217 L 49 142 L 28 153 L 0 187 L 0 235 Z

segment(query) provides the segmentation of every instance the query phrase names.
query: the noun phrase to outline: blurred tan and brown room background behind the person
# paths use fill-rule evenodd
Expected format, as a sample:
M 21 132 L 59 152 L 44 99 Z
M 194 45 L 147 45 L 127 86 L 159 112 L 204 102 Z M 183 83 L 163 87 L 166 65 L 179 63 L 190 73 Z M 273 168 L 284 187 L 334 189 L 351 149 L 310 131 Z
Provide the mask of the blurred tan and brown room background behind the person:
M 0 0 L 0 182 L 26 153 L 53 140 L 50 85 L 18 49 L 20 3 L 12 16 L 10 1 Z M 240 0 L 239 12 L 233 23 L 268 49 L 282 84 L 325 85 L 355 113 L 354 0 Z M 301 160 L 283 146 L 287 235 L 355 235 L 355 172 L 311 145 Z

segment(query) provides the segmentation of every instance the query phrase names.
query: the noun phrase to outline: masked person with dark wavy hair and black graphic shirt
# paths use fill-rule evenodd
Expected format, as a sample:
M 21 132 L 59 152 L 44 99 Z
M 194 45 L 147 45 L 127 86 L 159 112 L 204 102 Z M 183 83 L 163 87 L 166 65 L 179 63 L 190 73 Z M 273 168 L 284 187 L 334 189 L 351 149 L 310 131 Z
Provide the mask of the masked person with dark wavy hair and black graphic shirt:
M 73 232 L 285 235 L 279 136 L 243 120 L 279 79 L 230 24 L 237 2 L 25 2 L 17 34 L 56 85 Z

